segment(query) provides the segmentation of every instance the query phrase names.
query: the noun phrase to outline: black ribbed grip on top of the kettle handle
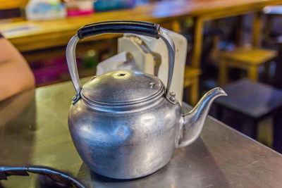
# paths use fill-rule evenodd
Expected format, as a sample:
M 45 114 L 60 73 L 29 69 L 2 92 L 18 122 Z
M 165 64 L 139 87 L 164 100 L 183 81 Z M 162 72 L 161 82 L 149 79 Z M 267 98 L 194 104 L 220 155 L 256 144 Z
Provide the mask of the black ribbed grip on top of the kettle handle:
M 159 39 L 159 24 L 139 21 L 109 21 L 85 25 L 78 30 L 78 37 L 85 39 L 103 33 L 133 33 Z

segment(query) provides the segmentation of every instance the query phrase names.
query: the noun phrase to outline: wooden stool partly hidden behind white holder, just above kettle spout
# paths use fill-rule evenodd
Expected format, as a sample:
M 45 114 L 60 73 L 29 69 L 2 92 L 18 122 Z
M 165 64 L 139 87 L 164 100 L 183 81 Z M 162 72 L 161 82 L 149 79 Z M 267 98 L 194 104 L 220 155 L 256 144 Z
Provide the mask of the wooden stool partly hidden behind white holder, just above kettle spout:
M 199 77 L 202 73 L 200 68 L 185 66 L 183 88 L 190 87 L 189 102 L 192 106 L 199 100 Z

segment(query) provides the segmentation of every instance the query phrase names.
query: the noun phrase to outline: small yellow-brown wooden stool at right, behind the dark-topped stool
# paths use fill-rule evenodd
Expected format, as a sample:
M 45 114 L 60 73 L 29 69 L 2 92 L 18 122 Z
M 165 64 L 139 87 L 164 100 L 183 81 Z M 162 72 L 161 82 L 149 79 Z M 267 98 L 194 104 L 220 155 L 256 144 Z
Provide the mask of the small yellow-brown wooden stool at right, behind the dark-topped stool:
M 257 81 L 259 66 L 265 65 L 265 73 L 269 73 L 269 63 L 276 58 L 277 52 L 269 49 L 238 48 L 234 51 L 223 51 L 220 56 L 219 84 L 222 86 L 228 79 L 228 67 L 246 69 L 248 78 Z

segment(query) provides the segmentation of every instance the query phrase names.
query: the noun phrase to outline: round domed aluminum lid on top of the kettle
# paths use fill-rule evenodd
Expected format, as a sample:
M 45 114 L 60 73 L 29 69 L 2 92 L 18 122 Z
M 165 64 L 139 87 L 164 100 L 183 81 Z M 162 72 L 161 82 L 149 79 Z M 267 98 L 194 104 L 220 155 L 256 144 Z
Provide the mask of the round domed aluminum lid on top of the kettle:
M 136 104 L 164 94 L 164 84 L 153 75 L 135 70 L 116 70 L 92 77 L 82 87 L 81 94 L 96 104 Z

